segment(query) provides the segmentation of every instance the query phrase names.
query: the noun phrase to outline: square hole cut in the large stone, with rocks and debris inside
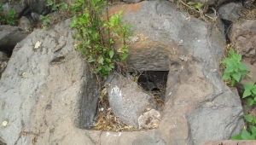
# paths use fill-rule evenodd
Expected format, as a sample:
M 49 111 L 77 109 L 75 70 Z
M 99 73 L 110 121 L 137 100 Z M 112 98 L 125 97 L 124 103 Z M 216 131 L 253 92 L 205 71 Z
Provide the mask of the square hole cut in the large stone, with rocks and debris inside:
M 120 75 L 122 77 L 119 78 L 119 81 L 122 83 L 120 86 L 119 85 L 117 86 L 120 87 L 119 89 L 122 91 L 121 94 L 123 94 L 124 96 L 118 97 L 118 98 L 126 98 L 127 100 L 125 99 L 125 100 L 116 101 L 116 98 L 111 98 L 111 96 L 109 96 L 109 93 L 112 92 L 111 88 L 113 89 L 117 87 L 115 84 L 111 84 L 113 85 L 112 87 L 105 86 L 105 88 L 103 88 L 101 92 L 94 92 L 91 94 L 87 94 L 95 97 L 98 96 L 96 97 L 98 98 L 97 100 L 98 103 L 96 104 L 95 103 L 96 100 L 94 100 L 93 104 L 96 106 L 93 106 L 93 104 L 90 104 L 90 116 L 83 115 L 85 114 L 85 112 L 89 113 L 89 110 L 88 110 L 89 108 L 85 108 L 85 106 L 87 105 L 81 106 L 79 128 L 86 129 L 86 130 L 97 130 L 97 131 L 140 131 L 140 130 L 148 130 L 148 129 L 151 130 L 151 129 L 157 128 L 158 126 L 155 126 L 155 125 L 159 125 L 160 118 L 151 119 L 150 117 L 152 115 L 160 117 L 160 112 L 163 110 L 164 102 L 166 100 L 166 83 L 167 83 L 168 73 L 169 73 L 168 71 L 140 71 L 140 72 L 137 71 L 137 72 L 128 73 L 127 76 L 125 77 Z M 108 77 L 108 78 L 111 78 L 111 77 Z M 124 85 L 125 83 L 123 82 L 125 81 L 124 78 L 127 80 L 126 83 L 128 84 Z M 137 84 L 137 85 L 134 85 L 134 84 Z M 90 87 L 88 87 L 88 90 L 90 90 L 89 88 Z M 126 91 L 126 89 L 128 89 L 129 91 Z M 141 98 L 138 98 L 138 96 L 135 95 L 137 93 L 135 93 L 132 90 L 137 91 L 137 93 L 139 94 L 144 93 L 147 95 L 145 95 L 145 97 L 140 96 Z M 127 94 L 125 95 L 125 93 Z M 136 97 L 132 97 L 134 95 Z M 86 98 L 85 96 L 83 97 L 84 99 L 81 100 L 83 102 L 82 104 L 86 104 L 86 102 L 89 101 L 88 99 L 85 99 Z M 135 119 L 137 118 L 136 119 L 137 123 L 135 125 L 129 125 L 129 123 L 127 124 L 127 122 L 124 121 L 124 118 L 125 118 L 124 116 L 126 115 L 125 112 L 123 112 L 124 116 L 122 118 L 122 115 L 120 115 L 119 112 L 114 111 L 114 110 L 120 110 L 120 109 L 121 110 L 127 109 L 127 107 L 130 106 L 129 99 L 132 100 L 131 101 L 132 103 L 130 104 L 131 106 L 132 105 L 141 106 L 138 108 L 132 107 L 132 110 L 138 109 L 135 112 L 139 112 L 139 114 L 137 114 L 138 118 L 134 117 Z M 116 101 L 116 102 L 113 102 L 113 101 Z M 146 102 L 149 103 L 147 107 L 146 105 L 142 105 L 142 104 L 145 104 Z M 127 107 L 125 105 L 127 105 Z M 94 108 L 94 109 L 91 109 L 91 108 Z M 130 111 L 128 112 L 131 113 Z M 130 115 L 129 113 L 127 116 Z

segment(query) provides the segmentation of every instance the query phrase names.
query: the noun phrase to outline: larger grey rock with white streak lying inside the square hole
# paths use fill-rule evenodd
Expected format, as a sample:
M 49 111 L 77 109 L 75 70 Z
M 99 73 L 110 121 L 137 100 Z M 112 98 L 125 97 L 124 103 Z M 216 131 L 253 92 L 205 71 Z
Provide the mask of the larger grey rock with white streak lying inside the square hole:
M 125 124 L 138 127 L 138 118 L 147 108 L 156 108 L 154 96 L 144 93 L 139 85 L 119 74 L 108 77 L 108 101 L 113 113 Z

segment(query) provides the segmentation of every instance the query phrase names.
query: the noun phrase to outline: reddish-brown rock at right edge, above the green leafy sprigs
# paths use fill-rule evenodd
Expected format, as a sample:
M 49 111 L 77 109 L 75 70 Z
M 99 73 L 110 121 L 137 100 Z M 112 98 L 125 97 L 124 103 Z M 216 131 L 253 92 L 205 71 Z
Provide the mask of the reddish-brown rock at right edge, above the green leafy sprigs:
M 256 61 L 256 20 L 236 22 L 231 30 L 231 42 L 243 61 L 253 64 Z

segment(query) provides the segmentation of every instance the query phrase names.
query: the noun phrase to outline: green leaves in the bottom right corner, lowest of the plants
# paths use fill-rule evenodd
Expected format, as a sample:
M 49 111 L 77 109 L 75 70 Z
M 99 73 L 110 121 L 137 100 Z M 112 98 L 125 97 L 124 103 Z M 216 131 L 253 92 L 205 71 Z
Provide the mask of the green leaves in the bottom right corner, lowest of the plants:
M 249 128 L 247 130 L 243 129 L 241 131 L 241 134 L 230 136 L 231 140 L 255 140 L 256 139 L 256 127 L 254 126 L 256 123 L 256 117 L 253 118 L 250 115 L 244 115 L 244 118 L 252 125 L 249 125 Z

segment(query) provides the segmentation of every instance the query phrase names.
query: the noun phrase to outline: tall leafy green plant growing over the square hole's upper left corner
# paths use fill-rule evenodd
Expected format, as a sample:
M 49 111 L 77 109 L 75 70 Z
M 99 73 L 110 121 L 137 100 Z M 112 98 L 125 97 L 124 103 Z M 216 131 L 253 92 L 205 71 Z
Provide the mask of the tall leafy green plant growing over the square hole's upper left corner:
M 107 8 L 105 15 L 103 7 Z M 125 61 L 128 56 L 126 40 L 131 36 L 131 26 L 122 22 L 122 11 L 108 15 L 107 0 L 75 0 L 72 12 L 75 18 L 70 26 L 76 29 L 73 38 L 78 40 L 75 49 L 93 65 L 92 73 L 106 78 L 115 62 Z M 115 41 L 122 44 L 119 49 L 113 48 Z

